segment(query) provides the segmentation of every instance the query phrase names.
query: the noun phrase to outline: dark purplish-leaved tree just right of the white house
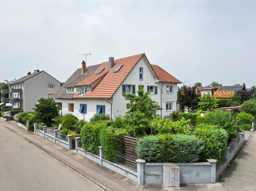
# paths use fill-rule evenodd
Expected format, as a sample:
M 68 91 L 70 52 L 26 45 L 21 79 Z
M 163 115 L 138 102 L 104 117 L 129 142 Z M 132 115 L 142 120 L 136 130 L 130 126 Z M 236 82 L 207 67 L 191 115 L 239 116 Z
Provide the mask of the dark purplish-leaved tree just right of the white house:
M 196 93 L 196 87 L 188 87 L 183 85 L 181 88 L 178 88 L 178 99 L 177 101 L 180 104 L 180 108 L 183 110 L 184 107 L 197 107 L 198 106 L 198 97 L 200 96 Z

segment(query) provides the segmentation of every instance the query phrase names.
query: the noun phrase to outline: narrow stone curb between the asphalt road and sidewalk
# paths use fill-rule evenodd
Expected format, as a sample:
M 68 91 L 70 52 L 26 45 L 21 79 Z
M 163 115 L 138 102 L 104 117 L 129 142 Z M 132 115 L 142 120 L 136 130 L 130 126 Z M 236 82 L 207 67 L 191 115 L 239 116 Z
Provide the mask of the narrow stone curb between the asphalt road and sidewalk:
M 9 122 L 10 123 L 10 122 Z M 13 123 L 10 123 L 13 125 Z M 39 149 L 41 149 L 43 152 L 49 154 L 51 157 L 53 157 L 54 159 L 62 162 L 63 164 L 65 164 L 67 167 L 71 168 L 72 170 L 74 170 L 75 172 L 77 172 L 78 174 L 80 174 L 81 176 L 85 177 L 86 179 L 90 180 L 92 183 L 98 185 L 100 188 L 102 188 L 105 191 L 112 191 L 111 189 L 107 188 L 106 186 L 104 186 L 103 184 L 99 183 L 98 181 L 94 180 L 93 178 L 91 178 L 90 176 L 85 175 L 82 171 L 78 170 L 77 168 L 72 167 L 69 164 L 66 164 L 64 161 L 62 161 L 60 158 L 56 157 L 55 155 L 53 155 L 52 153 L 50 153 L 49 151 L 47 151 L 46 149 L 42 148 L 41 146 L 37 145 L 36 143 L 32 142 L 31 140 L 29 140 L 28 138 L 25 138 L 23 136 L 21 136 L 20 134 L 17 133 L 17 131 L 10 129 L 9 127 L 4 126 L 5 128 L 7 128 L 8 130 L 11 130 L 12 132 L 14 132 L 15 134 L 17 134 L 18 136 L 20 136 L 21 138 L 24 138 L 27 142 L 31 143 L 32 145 L 35 145 L 36 147 L 38 147 Z

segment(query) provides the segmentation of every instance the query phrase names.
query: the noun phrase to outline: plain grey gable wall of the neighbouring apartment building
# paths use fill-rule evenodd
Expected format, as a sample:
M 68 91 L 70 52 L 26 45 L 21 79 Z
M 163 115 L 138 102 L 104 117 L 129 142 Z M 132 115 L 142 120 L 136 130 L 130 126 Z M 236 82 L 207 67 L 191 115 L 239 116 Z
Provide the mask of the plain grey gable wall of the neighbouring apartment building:
M 54 89 L 48 89 L 49 84 L 54 85 Z M 59 87 L 60 82 L 44 71 L 25 80 L 23 85 L 24 111 L 33 112 L 38 99 L 48 98 L 48 94 L 55 93 Z

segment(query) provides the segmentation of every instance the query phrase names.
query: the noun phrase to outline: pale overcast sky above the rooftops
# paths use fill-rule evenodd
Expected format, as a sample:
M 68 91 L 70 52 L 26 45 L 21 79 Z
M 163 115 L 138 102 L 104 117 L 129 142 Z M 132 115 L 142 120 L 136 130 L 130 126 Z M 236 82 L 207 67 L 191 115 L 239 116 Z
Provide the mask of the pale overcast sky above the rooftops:
M 186 85 L 256 85 L 256 0 L 0 0 L 0 82 L 145 53 Z

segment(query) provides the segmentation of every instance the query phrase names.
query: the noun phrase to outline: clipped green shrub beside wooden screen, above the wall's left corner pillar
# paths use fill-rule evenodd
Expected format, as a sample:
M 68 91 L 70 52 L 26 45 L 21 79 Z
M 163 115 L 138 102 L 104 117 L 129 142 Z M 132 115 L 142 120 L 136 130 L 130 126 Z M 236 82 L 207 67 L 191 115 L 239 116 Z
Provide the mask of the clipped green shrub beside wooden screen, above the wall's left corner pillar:
M 161 159 L 161 145 L 157 136 L 145 136 L 138 141 L 137 155 L 147 162 L 157 162 Z

